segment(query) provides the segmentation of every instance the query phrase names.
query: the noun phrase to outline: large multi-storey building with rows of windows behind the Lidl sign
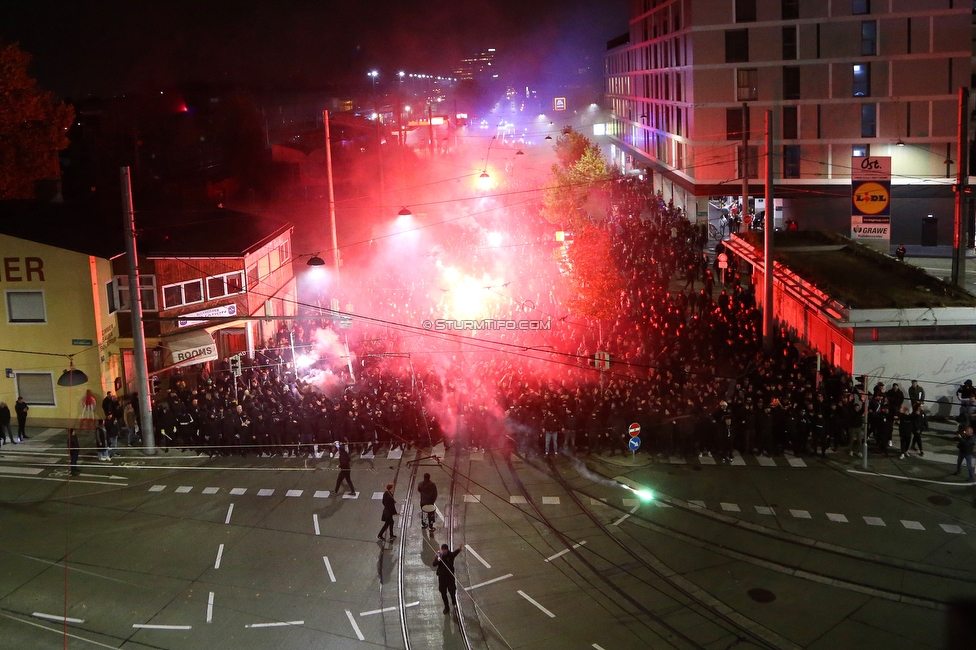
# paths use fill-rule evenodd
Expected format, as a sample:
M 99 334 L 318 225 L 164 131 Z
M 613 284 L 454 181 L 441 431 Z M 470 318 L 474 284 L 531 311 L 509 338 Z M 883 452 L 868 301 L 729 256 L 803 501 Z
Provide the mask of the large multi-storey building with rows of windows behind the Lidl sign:
M 927 215 L 949 243 L 972 15 L 962 0 L 631 0 L 605 61 L 612 156 L 704 218 L 743 174 L 763 195 L 769 110 L 775 195 L 800 227 L 849 232 L 852 157 L 890 156 L 892 243 L 919 243 Z

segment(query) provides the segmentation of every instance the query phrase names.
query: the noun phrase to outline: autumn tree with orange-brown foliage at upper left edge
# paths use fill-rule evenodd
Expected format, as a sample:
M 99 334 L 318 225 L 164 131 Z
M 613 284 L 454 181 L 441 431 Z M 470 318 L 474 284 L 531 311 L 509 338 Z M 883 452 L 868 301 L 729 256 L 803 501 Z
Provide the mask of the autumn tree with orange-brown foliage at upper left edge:
M 30 55 L 0 42 L 0 199 L 30 199 L 34 183 L 58 178 L 74 109 L 27 74 Z

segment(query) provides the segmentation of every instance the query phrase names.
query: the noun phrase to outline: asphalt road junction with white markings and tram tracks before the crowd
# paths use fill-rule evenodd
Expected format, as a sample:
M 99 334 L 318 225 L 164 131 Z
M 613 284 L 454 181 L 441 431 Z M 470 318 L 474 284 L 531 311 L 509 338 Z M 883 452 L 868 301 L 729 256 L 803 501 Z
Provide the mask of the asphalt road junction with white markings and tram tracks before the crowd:
M 976 513 L 935 429 L 925 458 L 866 472 L 840 452 L 357 454 L 342 496 L 328 456 L 123 449 L 68 478 L 64 432 L 35 430 L 0 450 L 0 647 L 941 648 L 948 604 L 974 596 Z M 459 615 L 442 613 L 441 543 L 463 549 Z

